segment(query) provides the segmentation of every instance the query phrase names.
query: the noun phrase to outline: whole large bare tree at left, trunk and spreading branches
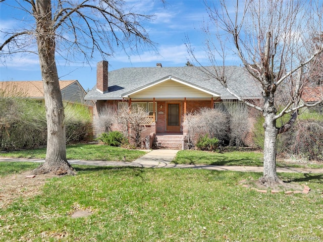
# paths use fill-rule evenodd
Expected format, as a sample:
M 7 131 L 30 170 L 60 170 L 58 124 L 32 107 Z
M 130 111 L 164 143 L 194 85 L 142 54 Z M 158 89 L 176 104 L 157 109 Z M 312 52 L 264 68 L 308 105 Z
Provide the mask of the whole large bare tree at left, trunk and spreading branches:
M 75 174 L 66 159 L 64 106 L 56 67 L 56 53 L 73 59 L 83 54 L 85 62 L 95 51 L 102 57 L 114 54 L 114 47 L 127 51 L 154 43 L 141 25 L 147 16 L 131 12 L 123 0 L 3 0 L 21 15 L 29 29 L 2 30 L 2 62 L 15 53 L 33 52 L 39 56 L 47 119 L 45 163 L 34 173 Z M 18 16 L 18 15 L 17 15 Z M 18 26 L 19 27 L 19 26 Z M 24 27 L 25 28 L 25 27 Z M 127 52 L 129 53 L 129 52 Z

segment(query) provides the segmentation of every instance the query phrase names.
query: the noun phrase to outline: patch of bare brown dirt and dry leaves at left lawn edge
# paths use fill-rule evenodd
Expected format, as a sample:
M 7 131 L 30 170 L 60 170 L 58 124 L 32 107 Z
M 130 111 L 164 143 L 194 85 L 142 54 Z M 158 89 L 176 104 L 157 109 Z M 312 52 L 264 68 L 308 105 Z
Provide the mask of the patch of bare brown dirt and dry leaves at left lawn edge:
M 0 209 L 10 205 L 17 198 L 30 198 L 41 194 L 42 187 L 46 179 L 59 177 L 58 175 L 42 174 L 36 175 L 33 178 L 26 178 L 31 171 L 22 172 L 19 174 L 0 177 Z

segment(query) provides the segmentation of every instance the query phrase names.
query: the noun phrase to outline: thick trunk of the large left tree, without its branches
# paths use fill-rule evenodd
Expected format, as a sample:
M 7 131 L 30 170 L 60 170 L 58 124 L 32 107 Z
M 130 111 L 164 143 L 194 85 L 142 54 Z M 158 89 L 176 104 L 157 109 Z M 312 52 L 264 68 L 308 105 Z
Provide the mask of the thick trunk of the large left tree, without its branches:
M 66 159 L 65 116 L 55 62 L 55 31 L 52 24 L 48 24 L 52 23 L 50 0 L 36 1 L 34 17 L 47 119 L 46 159 L 34 173 L 75 174 Z

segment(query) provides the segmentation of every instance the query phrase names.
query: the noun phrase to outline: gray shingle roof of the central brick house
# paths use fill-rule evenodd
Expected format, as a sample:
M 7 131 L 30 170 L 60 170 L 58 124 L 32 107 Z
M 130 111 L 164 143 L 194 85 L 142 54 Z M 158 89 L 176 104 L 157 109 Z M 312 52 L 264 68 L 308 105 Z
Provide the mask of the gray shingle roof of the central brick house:
M 206 67 L 214 73 L 213 67 Z M 261 98 L 261 88 L 242 67 L 225 67 L 228 86 L 243 98 Z M 122 68 L 109 72 L 109 92 L 100 93 L 96 86 L 85 96 L 86 100 L 121 99 L 122 95 L 146 86 L 167 76 L 181 79 L 187 83 L 220 93 L 222 99 L 235 99 L 219 81 L 211 78 L 197 67 L 143 67 Z

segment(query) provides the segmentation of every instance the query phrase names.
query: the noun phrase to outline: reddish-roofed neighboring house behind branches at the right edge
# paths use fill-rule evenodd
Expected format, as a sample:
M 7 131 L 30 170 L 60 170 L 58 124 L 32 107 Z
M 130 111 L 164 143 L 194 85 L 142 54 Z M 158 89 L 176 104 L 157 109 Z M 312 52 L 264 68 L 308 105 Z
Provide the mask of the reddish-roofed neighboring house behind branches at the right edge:
M 308 104 L 313 104 L 318 101 L 323 100 L 323 87 L 322 86 L 306 86 L 301 95 L 301 99 L 303 102 Z M 309 109 L 313 109 L 317 112 L 323 113 L 323 103 L 316 105 L 314 107 L 310 107 Z

